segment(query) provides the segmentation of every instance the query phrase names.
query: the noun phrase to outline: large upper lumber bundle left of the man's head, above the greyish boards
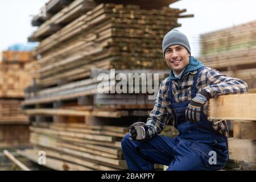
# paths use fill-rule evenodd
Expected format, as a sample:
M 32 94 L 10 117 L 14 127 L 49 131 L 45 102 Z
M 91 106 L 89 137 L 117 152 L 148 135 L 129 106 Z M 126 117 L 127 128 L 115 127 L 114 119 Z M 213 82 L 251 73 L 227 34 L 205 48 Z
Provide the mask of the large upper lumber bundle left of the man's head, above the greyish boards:
M 102 3 L 40 39 L 36 32 L 48 22 L 56 23 L 58 19 L 53 16 L 31 35 L 40 39 L 34 50 L 35 55 L 42 57 L 38 84 L 50 86 L 62 78 L 85 78 L 92 67 L 166 69 L 162 39 L 166 32 L 180 26 L 177 18 L 184 12 L 168 7 L 144 10 L 136 5 Z

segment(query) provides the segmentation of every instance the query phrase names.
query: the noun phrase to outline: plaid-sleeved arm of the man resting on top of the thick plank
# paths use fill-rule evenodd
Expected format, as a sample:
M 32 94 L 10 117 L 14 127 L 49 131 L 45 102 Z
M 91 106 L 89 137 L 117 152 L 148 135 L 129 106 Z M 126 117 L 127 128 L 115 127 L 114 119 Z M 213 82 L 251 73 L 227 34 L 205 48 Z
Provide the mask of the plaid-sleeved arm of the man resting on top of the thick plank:
M 204 69 L 202 76 L 204 74 L 206 76 L 205 82 L 208 86 L 203 88 L 202 91 L 205 91 L 210 98 L 229 93 L 246 93 L 248 91 L 248 86 L 245 81 L 223 75 L 216 69 Z

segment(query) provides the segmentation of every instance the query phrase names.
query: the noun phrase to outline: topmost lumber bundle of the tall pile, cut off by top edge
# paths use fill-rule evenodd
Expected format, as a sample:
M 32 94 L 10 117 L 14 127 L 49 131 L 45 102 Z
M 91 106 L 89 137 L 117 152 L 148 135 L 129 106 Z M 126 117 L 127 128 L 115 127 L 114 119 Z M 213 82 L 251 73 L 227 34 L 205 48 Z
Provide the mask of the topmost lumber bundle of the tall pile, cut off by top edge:
M 51 0 L 40 9 L 38 15 L 35 15 L 32 18 L 31 24 L 32 26 L 40 26 L 47 20 L 54 17 L 55 19 L 58 18 L 59 20 L 57 20 L 57 23 L 53 23 L 53 26 L 56 24 L 58 26 L 64 26 L 65 24 L 71 22 L 72 19 L 77 18 L 82 13 L 85 13 L 86 11 L 93 9 L 93 7 L 100 5 L 101 3 L 137 5 L 140 6 L 142 9 L 150 10 L 159 9 L 164 6 L 167 7 L 168 5 L 176 1 L 179 0 L 164 0 L 160 2 L 156 2 L 154 0 Z

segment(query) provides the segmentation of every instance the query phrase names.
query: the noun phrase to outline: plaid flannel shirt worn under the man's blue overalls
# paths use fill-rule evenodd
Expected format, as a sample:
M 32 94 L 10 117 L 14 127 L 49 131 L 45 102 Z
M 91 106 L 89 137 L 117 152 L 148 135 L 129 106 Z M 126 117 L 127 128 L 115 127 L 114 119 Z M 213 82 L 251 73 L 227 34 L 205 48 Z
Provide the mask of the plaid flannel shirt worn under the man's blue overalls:
M 181 77 L 181 80 L 177 81 L 170 81 L 168 77 L 162 81 L 154 108 L 146 122 L 146 126 L 149 127 L 148 134 L 150 134 L 150 137 L 159 134 L 168 122 L 171 121 L 172 125 L 176 122 L 172 115 L 170 107 L 171 101 L 168 96 L 168 93 L 170 92 L 170 83 L 172 83 L 172 94 L 174 95 L 176 102 L 191 100 L 191 86 L 196 73 L 197 70 L 187 72 Z M 208 67 L 205 67 L 199 73 L 196 88 L 197 93 L 204 89 L 206 92 L 210 93 L 212 98 L 229 93 L 245 93 L 248 91 L 246 82 L 239 78 L 223 75 L 216 69 Z M 178 94 L 181 94 L 181 97 L 178 97 Z M 205 103 L 203 111 L 208 116 L 208 102 Z M 216 123 L 213 121 L 210 122 L 212 122 L 214 130 L 220 132 L 224 136 L 228 136 L 228 126 L 226 121 Z

